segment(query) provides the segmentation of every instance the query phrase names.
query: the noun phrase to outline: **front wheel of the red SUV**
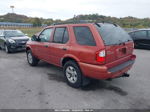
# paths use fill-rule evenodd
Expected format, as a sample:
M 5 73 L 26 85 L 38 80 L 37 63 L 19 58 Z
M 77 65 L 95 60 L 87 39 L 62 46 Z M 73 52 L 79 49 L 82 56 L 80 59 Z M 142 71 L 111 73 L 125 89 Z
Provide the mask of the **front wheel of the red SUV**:
M 29 65 L 31 66 L 37 66 L 39 59 L 37 59 L 35 56 L 33 56 L 31 50 L 27 51 L 27 61 L 29 63 Z

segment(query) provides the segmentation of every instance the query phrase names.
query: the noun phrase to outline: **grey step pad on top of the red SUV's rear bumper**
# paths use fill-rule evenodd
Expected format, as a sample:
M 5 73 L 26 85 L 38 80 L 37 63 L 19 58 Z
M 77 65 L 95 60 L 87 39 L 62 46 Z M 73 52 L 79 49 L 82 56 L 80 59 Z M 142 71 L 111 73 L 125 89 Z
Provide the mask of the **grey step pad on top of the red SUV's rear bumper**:
M 127 61 L 127 62 L 125 62 L 123 64 L 120 64 L 120 65 L 118 65 L 116 67 L 113 67 L 113 68 L 109 69 L 108 71 L 111 72 L 111 73 L 118 72 L 118 71 L 128 67 L 129 65 L 134 64 L 134 62 L 135 62 L 134 60 Z

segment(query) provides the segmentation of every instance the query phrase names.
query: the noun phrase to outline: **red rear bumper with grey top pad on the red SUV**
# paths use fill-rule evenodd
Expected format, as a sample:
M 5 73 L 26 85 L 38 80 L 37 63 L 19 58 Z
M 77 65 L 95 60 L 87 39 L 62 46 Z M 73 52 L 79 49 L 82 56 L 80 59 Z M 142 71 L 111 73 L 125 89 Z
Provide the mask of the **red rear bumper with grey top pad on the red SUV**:
M 134 56 L 134 55 L 133 55 Z M 131 56 L 132 57 L 132 56 Z M 135 58 L 130 58 L 127 61 L 109 68 L 109 65 L 92 65 L 79 63 L 83 74 L 87 77 L 95 79 L 110 79 L 122 76 L 129 71 L 135 62 Z M 116 62 L 118 63 L 118 62 Z

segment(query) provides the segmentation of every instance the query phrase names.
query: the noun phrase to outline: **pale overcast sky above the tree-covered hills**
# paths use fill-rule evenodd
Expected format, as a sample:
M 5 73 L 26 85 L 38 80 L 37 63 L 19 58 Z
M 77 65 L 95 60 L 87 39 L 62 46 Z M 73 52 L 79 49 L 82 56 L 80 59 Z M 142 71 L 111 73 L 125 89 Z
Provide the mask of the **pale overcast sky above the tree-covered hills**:
M 0 15 L 14 12 L 30 17 L 68 19 L 79 14 L 150 17 L 150 0 L 0 0 Z

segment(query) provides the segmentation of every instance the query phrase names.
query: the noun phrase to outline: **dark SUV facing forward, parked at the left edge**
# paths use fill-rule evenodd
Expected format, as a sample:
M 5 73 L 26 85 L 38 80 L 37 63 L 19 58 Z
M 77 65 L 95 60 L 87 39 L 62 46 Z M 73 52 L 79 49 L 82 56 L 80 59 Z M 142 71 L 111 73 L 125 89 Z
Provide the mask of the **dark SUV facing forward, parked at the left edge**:
M 29 37 L 20 30 L 0 30 L 0 49 L 7 53 L 25 50 Z

